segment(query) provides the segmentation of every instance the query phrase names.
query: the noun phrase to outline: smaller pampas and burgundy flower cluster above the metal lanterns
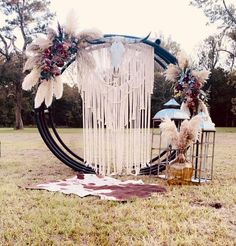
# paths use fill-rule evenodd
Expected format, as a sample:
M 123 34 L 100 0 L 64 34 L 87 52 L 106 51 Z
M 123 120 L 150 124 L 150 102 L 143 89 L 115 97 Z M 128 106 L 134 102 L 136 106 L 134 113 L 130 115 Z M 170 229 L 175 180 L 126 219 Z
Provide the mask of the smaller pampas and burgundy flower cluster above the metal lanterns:
M 183 99 L 181 109 L 190 116 L 196 115 L 199 109 L 209 116 L 201 88 L 209 78 L 210 71 L 193 69 L 183 53 L 179 53 L 177 59 L 178 64 L 169 64 L 164 74 L 167 80 L 174 83 L 175 96 Z

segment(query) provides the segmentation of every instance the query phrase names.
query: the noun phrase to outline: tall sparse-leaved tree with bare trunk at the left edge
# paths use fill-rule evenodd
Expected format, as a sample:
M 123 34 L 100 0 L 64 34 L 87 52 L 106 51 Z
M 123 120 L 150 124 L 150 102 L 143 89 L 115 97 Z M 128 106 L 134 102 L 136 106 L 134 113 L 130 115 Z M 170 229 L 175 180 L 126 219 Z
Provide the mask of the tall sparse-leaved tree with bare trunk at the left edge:
M 22 89 L 25 50 L 38 33 L 46 32 L 52 14 L 50 0 L 0 0 L 5 25 L 0 28 L 0 83 L 11 88 L 15 102 L 15 129 L 23 129 Z M 22 39 L 19 48 L 20 39 Z

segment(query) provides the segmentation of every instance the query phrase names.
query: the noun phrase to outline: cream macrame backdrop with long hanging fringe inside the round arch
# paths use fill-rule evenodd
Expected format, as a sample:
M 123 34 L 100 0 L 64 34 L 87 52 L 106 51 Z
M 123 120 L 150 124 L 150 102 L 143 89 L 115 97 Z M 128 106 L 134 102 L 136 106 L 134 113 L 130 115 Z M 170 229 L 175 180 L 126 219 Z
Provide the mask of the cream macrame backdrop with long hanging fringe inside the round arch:
M 84 160 L 101 174 L 137 174 L 151 158 L 150 110 L 154 50 L 122 43 L 117 70 L 112 44 L 78 53 Z

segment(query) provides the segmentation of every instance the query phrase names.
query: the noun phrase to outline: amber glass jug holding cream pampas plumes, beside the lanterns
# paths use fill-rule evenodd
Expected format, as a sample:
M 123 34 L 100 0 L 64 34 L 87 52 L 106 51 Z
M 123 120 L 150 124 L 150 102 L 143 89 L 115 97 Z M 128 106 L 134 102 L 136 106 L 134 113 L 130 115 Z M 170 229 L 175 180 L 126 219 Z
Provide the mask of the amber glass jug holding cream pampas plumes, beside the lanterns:
M 200 134 L 201 118 L 194 116 L 191 120 L 185 120 L 178 131 L 174 121 L 166 119 L 160 124 L 162 138 L 168 145 L 178 150 L 177 157 L 166 167 L 168 184 L 188 184 L 193 175 L 193 164 L 186 159 L 186 152 L 193 141 Z

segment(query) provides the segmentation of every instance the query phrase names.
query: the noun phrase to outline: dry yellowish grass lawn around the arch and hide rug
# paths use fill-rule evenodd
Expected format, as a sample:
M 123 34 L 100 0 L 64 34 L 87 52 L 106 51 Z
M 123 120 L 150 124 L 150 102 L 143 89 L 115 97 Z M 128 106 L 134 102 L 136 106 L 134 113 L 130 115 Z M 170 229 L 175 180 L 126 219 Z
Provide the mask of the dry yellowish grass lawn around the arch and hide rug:
M 81 130 L 60 133 L 81 151 Z M 156 177 L 137 177 L 168 191 L 119 203 L 21 188 L 75 173 L 36 129 L 2 128 L 0 245 L 236 245 L 236 128 L 220 128 L 216 137 L 211 183 L 170 187 Z

